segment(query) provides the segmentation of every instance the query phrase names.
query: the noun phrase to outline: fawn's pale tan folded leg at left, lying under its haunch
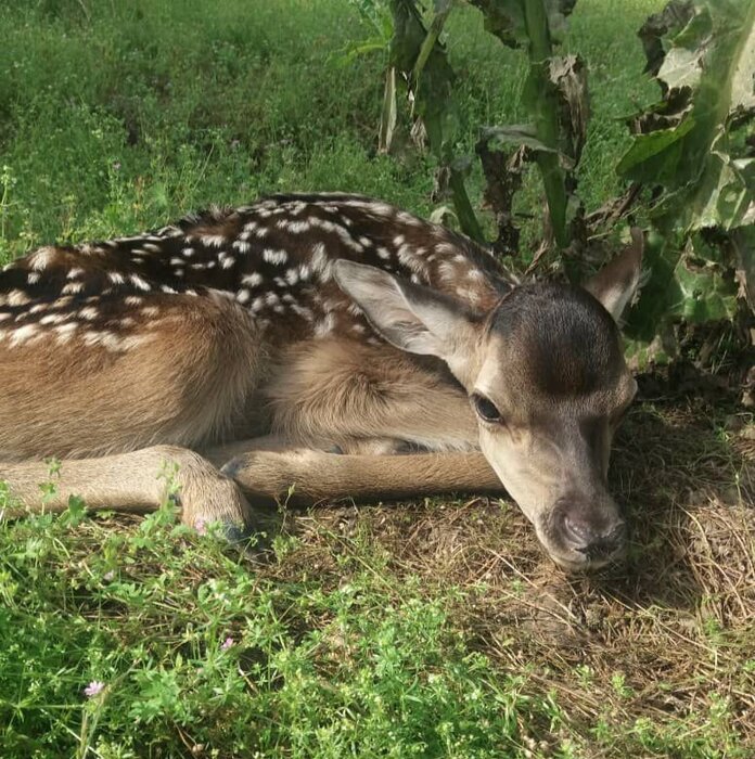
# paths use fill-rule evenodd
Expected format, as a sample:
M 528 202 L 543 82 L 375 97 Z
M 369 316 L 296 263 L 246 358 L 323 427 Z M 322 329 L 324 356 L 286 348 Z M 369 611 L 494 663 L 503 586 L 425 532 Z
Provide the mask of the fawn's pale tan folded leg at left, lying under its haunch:
M 185 448 L 154 446 L 98 459 L 64 460 L 52 476 L 54 492 L 42 498 L 40 483 L 50 478 L 44 462 L 0 463 L 0 479 L 23 503 L 4 516 L 18 516 L 25 509 L 61 512 L 69 496 L 80 496 L 92 509 L 146 513 L 175 491 L 187 525 L 220 522 L 230 539 L 241 539 L 253 528 L 252 512 L 236 484 Z

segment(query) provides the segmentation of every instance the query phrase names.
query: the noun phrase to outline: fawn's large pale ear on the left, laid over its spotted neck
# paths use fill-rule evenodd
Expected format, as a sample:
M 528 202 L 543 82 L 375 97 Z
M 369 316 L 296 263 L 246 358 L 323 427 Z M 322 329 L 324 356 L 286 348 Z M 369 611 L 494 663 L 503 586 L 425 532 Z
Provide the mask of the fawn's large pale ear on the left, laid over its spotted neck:
M 476 334 L 458 303 L 382 269 L 346 259 L 335 262 L 335 281 L 392 345 L 410 353 L 437 356 L 451 363 Z

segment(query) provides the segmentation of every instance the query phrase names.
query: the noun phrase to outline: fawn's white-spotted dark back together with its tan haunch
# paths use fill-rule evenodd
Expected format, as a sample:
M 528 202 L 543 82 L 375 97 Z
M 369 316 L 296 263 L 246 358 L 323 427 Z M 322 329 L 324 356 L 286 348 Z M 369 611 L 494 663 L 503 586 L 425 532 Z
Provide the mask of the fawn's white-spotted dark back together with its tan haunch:
M 286 374 L 296 346 L 327 342 L 335 363 L 382 346 L 406 362 L 337 285 L 338 259 L 482 310 L 510 286 L 465 237 L 345 194 L 276 196 L 42 247 L 0 274 L 0 459 L 264 434 L 260 388 Z

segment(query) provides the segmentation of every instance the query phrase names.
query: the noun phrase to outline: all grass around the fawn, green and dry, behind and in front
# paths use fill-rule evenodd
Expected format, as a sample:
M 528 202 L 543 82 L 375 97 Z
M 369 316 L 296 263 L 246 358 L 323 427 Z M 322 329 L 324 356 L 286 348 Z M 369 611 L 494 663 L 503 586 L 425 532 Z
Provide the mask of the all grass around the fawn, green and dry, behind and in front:
M 573 16 L 589 208 L 653 94 L 635 30 L 660 5 Z M 278 190 L 432 210 L 431 158 L 375 154 L 383 59 L 342 64 L 370 34 L 345 0 L 0 0 L 0 27 L 2 260 Z M 523 65 L 469 10 L 449 54 L 463 152 L 522 120 Z M 487 501 L 287 516 L 263 565 L 169 510 L 0 524 L 0 756 L 752 756 L 752 458 L 705 413 L 630 417 L 637 544 L 596 580 Z

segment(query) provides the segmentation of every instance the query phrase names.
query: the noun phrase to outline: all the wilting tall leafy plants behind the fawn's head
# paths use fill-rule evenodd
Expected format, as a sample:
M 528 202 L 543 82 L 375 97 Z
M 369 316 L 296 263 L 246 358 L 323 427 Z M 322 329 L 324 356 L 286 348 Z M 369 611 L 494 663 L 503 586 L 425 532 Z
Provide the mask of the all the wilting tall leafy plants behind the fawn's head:
M 490 34 L 506 46 L 522 48 L 528 60 L 521 94 L 528 121 L 479 125 L 476 152 L 487 180 L 486 200 L 498 222 L 494 249 L 517 258 L 513 201 L 526 162 L 534 160 L 548 208 L 536 261 L 554 243 L 572 280 L 580 279 L 581 263 L 596 255 L 590 241 L 604 234 L 606 223 L 613 226 L 634 210 L 643 190 L 652 192 L 647 210 L 658 234 L 651 236 L 649 282 L 629 324 L 638 365 L 676 358 L 674 327 L 681 320 L 730 321 L 738 311 L 738 295 L 743 301 L 750 295 L 751 305 L 755 303 L 753 282 L 747 292 L 747 272 L 755 266 L 752 3 L 673 0 L 643 25 L 648 70 L 657 77 L 663 101 L 631 119 L 634 143 L 624 156 L 614 156 L 617 172 L 634 184 L 622 198 L 604 198 L 603 211 L 586 217 L 575 169 L 587 137 L 587 69 L 579 56 L 556 55 L 553 47 L 574 0 L 470 2 L 481 10 Z M 439 159 L 436 192 L 447 189 L 460 227 L 484 241 L 464 188 L 470 159 L 453 156 L 459 107 L 440 31 L 455 3 L 435 2 L 427 28 L 418 0 L 389 4 L 394 36 L 383 124 L 395 129 L 398 70 L 408 82 L 415 142 L 426 136 Z M 748 337 L 744 342 L 748 345 Z

